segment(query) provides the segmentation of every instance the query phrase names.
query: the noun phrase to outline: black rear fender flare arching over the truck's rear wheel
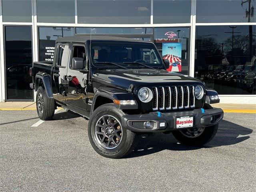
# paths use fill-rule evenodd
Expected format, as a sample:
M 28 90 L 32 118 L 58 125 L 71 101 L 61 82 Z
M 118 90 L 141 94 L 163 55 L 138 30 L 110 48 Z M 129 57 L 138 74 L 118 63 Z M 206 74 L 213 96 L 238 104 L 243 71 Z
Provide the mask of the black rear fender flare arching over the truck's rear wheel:
M 39 81 L 38 79 L 41 79 L 43 84 L 44 84 L 44 88 L 46 90 L 47 96 L 49 98 L 53 98 L 52 96 L 52 86 L 51 86 L 51 76 L 48 75 L 47 73 L 44 72 L 38 72 L 35 76 L 35 91 L 38 90 L 39 87 Z

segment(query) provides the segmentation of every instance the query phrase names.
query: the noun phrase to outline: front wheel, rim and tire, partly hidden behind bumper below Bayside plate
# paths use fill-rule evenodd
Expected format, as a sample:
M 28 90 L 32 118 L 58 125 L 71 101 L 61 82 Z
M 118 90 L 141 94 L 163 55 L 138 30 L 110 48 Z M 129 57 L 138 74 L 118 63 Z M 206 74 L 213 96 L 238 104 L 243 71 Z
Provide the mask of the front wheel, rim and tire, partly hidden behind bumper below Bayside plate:
M 188 146 L 202 146 L 214 138 L 218 124 L 205 128 L 190 128 L 172 131 L 179 143 Z

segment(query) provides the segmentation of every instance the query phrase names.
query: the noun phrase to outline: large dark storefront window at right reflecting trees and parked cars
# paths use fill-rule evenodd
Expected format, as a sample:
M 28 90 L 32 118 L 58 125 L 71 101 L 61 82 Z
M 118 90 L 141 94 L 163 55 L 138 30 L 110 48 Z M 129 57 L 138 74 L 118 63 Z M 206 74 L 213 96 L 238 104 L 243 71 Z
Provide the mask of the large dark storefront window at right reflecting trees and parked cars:
M 197 26 L 195 77 L 218 94 L 255 94 L 256 26 Z

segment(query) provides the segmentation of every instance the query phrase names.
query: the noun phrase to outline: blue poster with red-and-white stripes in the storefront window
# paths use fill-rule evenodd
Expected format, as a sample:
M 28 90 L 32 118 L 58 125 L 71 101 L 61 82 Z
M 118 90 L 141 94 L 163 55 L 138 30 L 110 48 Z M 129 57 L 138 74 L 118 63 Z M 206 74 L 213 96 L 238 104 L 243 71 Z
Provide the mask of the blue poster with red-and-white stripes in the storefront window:
M 181 43 L 162 43 L 162 57 L 170 62 L 167 71 L 181 72 L 181 48 Z

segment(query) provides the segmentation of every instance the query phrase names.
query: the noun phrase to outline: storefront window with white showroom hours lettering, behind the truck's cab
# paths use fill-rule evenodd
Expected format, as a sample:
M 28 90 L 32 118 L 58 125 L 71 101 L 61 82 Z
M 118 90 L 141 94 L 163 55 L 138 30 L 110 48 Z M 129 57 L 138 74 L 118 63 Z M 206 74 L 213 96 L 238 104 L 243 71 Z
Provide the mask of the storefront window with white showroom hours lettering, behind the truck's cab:
M 39 60 L 53 61 L 55 40 L 73 35 L 73 27 L 39 27 Z

